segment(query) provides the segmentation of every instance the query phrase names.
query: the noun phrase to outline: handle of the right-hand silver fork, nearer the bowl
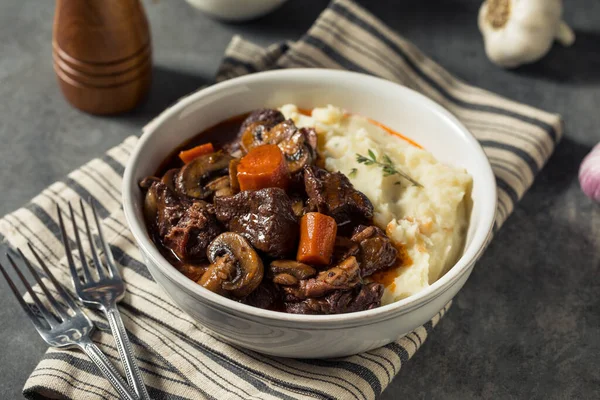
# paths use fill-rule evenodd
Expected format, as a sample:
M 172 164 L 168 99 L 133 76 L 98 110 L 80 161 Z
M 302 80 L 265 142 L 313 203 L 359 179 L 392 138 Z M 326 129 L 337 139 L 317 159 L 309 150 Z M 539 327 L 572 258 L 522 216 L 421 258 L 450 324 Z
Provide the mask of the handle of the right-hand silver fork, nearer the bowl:
M 116 305 L 111 305 L 105 310 L 105 313 L 108 324 L 110 325 L 110 330 L 115 338 L 115 343 L 117 344 L 117 350 L 121 356 L 121 363 L 125 370 L 127 382 L 133 387 L 141 400 L 150 400 L 146 385 L 144 385 L 144 380 L 142 379 L 142 374 L 135 362 L 133 348 L 131 347 L 131 342 L 127 336 L 125 326 L 123 325 L 119 309 Z

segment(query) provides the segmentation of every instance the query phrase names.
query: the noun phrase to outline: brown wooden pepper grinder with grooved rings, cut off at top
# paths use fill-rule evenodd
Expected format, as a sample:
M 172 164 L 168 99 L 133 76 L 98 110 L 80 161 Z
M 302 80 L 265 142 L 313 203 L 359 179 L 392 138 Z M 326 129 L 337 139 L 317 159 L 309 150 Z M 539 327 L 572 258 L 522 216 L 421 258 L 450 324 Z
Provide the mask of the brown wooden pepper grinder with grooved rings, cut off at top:
M 56 0 L 52 34 L 54 71 L 74 107 L 121 113 L 148 92 L 152 48 L 139 0 Z

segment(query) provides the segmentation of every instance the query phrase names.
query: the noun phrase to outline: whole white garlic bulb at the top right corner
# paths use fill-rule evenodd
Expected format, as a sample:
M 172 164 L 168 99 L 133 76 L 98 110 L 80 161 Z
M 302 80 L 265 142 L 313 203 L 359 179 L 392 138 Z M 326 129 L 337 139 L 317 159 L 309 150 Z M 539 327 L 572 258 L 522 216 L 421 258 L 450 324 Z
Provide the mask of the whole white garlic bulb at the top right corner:
M 562 0 L 486 0 L 478 23 L 488 58 L 507 68 L 539 60 L 555 39 L 564 46 L 575 41 L 562 20 Z

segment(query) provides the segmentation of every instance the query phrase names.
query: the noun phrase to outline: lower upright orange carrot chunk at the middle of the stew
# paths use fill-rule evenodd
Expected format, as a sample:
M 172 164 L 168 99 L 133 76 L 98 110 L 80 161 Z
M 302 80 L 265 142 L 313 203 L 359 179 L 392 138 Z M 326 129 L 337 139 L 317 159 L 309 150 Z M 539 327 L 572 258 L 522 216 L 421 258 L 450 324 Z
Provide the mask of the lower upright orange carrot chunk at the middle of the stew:
M 296 260 L 307 264 L 331 262 L 337 224 L 328 215 L 313 212 L 300 219 L 300 245 Z

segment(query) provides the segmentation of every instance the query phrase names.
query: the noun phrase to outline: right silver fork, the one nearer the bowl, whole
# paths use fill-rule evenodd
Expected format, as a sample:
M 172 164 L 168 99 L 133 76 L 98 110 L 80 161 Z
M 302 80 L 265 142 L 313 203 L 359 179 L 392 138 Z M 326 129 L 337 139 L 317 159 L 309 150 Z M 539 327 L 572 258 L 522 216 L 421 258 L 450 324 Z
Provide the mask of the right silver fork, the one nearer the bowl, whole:
M 58 204 L 56 205 L 58 211 L 58 221 L 60 223 L 60 229 L 63 238 L 63 245 L 65 247 L 67 261 L 69 263 L 69 268 L 71 269 L 71 275 L 73 278 L 73 286 L 75 286 L 77 296 L 83 304 L 89 307 L 97 308 L 106 315 L 108 324 L 110 325 L 110 329 L 115 338 L 117 350 L 121 356 L 121 362 L 123 364 L 123 369 L 125 370 L 127 382 L 129 382 L 131 387 L 133 387 L 140 399 L 150 399 L 142 379 L 142 374 L 140 373 L 137 363 L 135 362 L 133 349 L 131 347 L 131 343 L 129 342 L 125 326 L 123 325 L 121 314 L 117 308 L 117 302 L 120 301 L 125 295 L 125 284 L 123 283 L 123 279 L 119 274 L 119 269 L 114 261 L 112 252 L 104 240 L 102 227 L 100 226 L 100 222 L 98 220 L 98 213 L 96 212 L 94 202 L 91 199 L 89 202 L 92 206 L 92 213 L 96 222 L 100 247 L 101 251 L 104 253 L 106 266 L 102 264 L 96 251 L 96 246 L 94 245 L 92 232 L 87 219 L 87 213 L 85 211 L 85 207 L 83 206 L 83 201 L 80 199 L 79 205 L 81 206 L 81 215 L 85 224 L 85 230 L 90 245 L 89 247 L 92 254 L 92 262 L 98 275 L 98 279 L 94 279 L 90 270 L 90 266 L 87 262 L 85 252 L 83 251 L 81 240 L 79 238 L 73 207 L 71 206 L 71 203 L 69 203 L 69 214 L 73 224 L 73 231 L 75 232 L 75 242 L 77 244 L 79 258 L 81 260 L 84 283 L 81 282 L 79 275 L 77 274 L 77 269 L 75 267 L 75 262 L 71 254 L 71 247 L 69 246 L 69 241 L 65 230 L 65 224 L 62 218 L 62 211 Z

